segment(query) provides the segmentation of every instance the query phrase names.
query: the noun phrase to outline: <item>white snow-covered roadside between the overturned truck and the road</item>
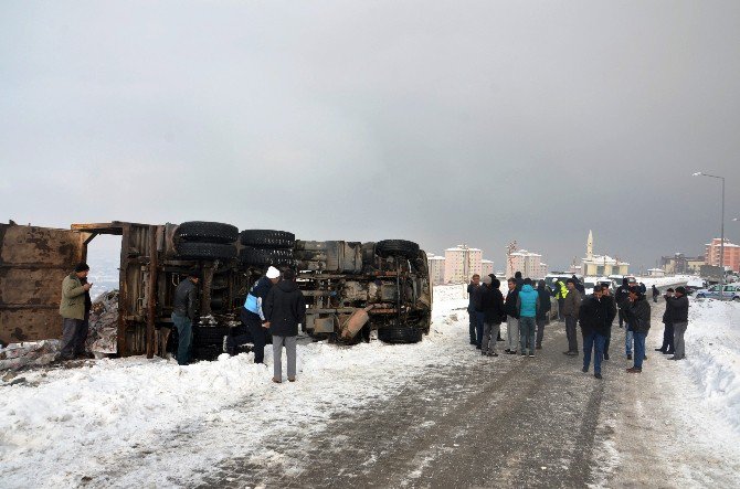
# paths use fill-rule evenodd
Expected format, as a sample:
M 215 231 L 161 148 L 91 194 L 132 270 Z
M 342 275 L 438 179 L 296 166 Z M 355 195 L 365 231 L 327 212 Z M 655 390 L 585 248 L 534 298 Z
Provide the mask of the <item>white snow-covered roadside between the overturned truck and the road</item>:
M 320 432 L 331 418 L 398 395 L 424 368 L 469 354 L 465 287 L 435 287 L 434 294 L 432 331 L 421 343 L 299 344 L 294 384 L 271 382 L 269 346 L 265 365 L 254 364 L 252 353 L 188 366 L 103 359 L 0 384 L 0 486 L 197 486 L 193 478 L 222 459 L 246 455 L 267 463 L 269 450 L 254 447 L 286 429 Z

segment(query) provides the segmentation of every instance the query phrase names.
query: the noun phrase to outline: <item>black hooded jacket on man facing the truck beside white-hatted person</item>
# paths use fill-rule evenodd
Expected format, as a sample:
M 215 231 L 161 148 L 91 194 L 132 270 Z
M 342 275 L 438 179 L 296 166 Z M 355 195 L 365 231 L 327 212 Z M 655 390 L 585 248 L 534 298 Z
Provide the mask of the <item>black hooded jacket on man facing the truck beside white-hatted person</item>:
M 271 287 L 262 310 L 269 321 L 269 332 L 276 337 L 295 337 L 298 325 L 306 323 L 306 299 L 293 280 Z

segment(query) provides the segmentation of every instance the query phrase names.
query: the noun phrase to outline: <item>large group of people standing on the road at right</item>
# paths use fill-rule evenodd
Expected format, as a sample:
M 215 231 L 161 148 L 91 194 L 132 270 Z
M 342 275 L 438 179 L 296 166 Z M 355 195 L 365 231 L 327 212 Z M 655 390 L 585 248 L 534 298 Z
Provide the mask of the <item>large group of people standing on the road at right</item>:
M 645 340 L 651 329 L 651 306 L 644 284 L 632 285 L 624 278 L 614 296 L 611 283 L 596 284 L 593 293 L 586 296 L 583 284 L 575 276 L 564 283 L 557 279 L 552 288 L 545 280 L 536 285 L 537 288 L 531 279 L 522 278 L 517 272 L 507 280 L 508 293 L 504 297 L 495 275 L 485 276 L 483 280 L 479 275 L 474 275 L 467 287 L 471 344 L 475 344 L 483 355 L 498 357 L 496 342 L 505 341 L 505 353 L 535 357 L 535 350 L 542 348 L 545 326 L 551 310 L 550 297 L 554 297 L 558 316 L 565 323 L 568 350 L 563 354 L 579 355 L 578 326 L 581 327 L 583 372 L 589 371 L 593 359 L 594 376 L 602 379 L 602 361 L 610 359 L 612 323 L 617 316 L 620 328 L 626 325 L 625 355 L 634 362 L 627 372 L 642 372 L 643 361 L 647 360 Z M 657 288 L 653 286 L 654 300 L 655 290 Z M 668 289 L 665 300 L 664 341 L 656 351 L 673 354 L 670 360 L 681 360 L 688 326 L 686 289 Z M 506 323 L 506 338 L 500 337 L 501 323 Z

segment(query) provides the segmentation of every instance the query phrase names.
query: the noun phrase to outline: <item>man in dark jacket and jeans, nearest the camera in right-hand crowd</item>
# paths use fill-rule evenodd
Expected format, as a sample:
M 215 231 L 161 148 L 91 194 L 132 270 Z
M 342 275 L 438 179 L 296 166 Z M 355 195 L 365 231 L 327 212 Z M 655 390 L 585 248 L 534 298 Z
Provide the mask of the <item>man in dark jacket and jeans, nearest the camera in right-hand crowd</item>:
M 581 333 L 583 334 L 583 372 L 589 371 L 591 350 L 593 350 L 593 376 L 596 379 L 601 379 L 601 360 L 604 355 L 607 317 L 609 310 L 606 304 L 602 300 L 602 288 L 600 284 L 596 284 L 593 287 L 593 294 L 581 302 L 579 310 Z

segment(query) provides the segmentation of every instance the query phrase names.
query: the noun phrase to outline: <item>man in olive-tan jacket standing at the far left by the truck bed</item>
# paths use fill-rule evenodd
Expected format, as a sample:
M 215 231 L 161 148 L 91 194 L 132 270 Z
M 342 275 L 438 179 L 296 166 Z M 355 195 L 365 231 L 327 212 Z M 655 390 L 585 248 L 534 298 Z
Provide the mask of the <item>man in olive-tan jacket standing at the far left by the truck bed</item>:
M 93 286 L 93 284 L 87 284 L 88 272 L 89 267 L 86 263 L 78 263 L 74 272 L 62 280 L 62 300 L 60 301 L 60 315 L 63 318 L 62 360 L 72 360 L 85 353 L 87 320 L 92 306 L 89 289 Z

